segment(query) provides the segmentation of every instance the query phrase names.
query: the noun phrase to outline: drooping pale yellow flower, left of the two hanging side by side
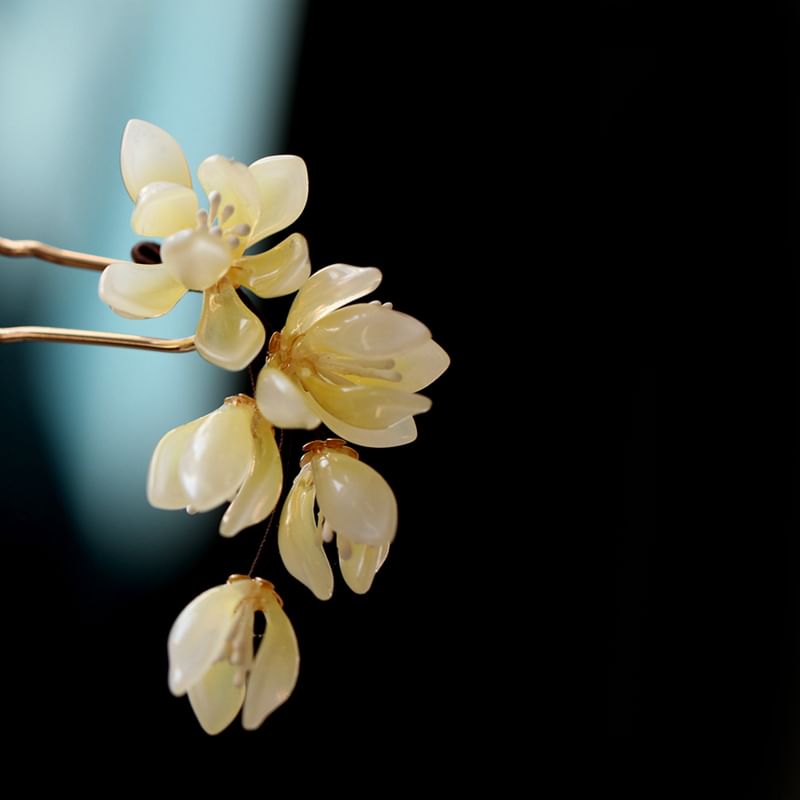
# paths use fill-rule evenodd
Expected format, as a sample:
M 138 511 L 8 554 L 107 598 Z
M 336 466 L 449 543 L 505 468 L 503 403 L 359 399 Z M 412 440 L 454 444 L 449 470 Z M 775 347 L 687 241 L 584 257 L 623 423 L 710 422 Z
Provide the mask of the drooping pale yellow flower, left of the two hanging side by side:
M 234 536 L 266 519 L 282 483 L 272 425 L 252 397 L 236 395 L 162 437 L 150 460 L 147 499 L 156 508 L 189 513 L 230 501 L 219 532 Z

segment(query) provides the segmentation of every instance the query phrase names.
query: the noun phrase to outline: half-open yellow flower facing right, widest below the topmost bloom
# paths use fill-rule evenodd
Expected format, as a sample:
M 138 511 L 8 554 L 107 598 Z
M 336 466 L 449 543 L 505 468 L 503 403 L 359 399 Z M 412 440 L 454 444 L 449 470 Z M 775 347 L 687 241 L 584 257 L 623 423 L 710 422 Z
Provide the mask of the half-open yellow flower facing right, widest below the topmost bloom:
M 281 428 L 317 427 L 368 447 L 416 438 L 416 392 L 447 369 L 447 353 L 413 317 L 388 305 L 346 305 L 381 281 L 374 267 L 334 264 L 301 287 L 258 376 L 261 413 Z

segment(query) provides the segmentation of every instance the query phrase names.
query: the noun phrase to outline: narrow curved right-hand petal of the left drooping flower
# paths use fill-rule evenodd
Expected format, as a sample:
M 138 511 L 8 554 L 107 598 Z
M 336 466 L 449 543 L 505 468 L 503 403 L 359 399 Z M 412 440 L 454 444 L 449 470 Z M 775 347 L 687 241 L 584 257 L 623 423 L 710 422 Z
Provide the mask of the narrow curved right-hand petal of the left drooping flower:
M 254 414 L 253 423 L 255 455 L 250 474 L 222 517 L 219 532 L 223 536 L 235 536 L 266 519 L 281 493 L 283 468 L 272 426 L 260 414 Z

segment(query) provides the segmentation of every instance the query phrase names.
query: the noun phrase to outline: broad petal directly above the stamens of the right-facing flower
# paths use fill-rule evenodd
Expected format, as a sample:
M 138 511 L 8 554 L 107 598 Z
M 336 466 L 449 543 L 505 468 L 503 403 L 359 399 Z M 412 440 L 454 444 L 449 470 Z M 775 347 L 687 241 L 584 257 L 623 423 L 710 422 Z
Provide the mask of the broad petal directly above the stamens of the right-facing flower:
M 395 357 L 420 347 L 431 332 L 414 317 L 373 303 L 345 306 L 318 320 L 305 345 L 317 352 Z

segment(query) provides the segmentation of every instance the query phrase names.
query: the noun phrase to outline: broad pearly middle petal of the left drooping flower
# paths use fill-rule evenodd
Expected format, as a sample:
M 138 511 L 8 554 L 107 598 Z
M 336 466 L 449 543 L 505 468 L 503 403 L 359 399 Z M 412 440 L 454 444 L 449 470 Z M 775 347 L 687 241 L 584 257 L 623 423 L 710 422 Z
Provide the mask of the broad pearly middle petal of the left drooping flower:
M 189 439 L 178 472 L 196 511 L 208 511 L 229 500 L 250 473 L 252 418 L 252 406 L 224 405 L 209 414 Z

